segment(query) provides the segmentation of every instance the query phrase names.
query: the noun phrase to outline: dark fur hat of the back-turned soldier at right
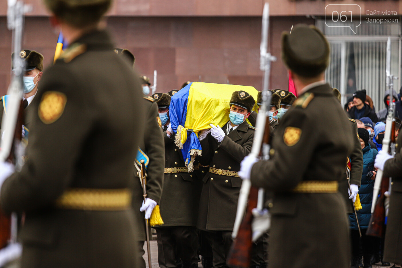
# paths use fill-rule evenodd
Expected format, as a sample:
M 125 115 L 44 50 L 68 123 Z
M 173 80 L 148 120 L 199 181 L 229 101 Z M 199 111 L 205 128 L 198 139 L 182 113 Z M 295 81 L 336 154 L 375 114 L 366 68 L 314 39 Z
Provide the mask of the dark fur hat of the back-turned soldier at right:
M 281 46 L 282 61 L 300 76 L 318 76 L 329 64 L 329 43 L 312 25 L 296 25 L 292 33 L 283 32 Z

